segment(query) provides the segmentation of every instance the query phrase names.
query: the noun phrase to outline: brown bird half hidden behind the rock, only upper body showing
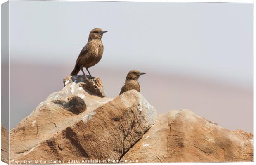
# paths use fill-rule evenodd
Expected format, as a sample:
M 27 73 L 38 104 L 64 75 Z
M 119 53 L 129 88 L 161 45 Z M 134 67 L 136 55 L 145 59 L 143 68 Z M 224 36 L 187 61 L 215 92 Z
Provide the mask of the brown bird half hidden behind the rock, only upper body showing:
M 128 90 L 137 90 L 138 92 L 140 92 L 140 84 L 138 82 L 138 78 L 140 77 L 140 75 L 144 75 L 146 73 L 137 71 L 137 70 L 132 70 L 130 71 L 127 76 L 126 76 L 126 82 L 124 83 L 120 94 L 128 91 Z

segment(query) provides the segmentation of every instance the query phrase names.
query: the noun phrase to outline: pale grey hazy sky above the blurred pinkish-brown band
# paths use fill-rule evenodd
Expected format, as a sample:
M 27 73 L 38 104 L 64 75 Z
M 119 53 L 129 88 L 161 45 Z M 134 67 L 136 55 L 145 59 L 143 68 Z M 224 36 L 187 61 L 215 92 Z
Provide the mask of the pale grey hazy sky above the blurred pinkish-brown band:
M 253 4 L 10 1 L 11 60 L 75 63 L 92 28 L 98 66 L 253 85 Z

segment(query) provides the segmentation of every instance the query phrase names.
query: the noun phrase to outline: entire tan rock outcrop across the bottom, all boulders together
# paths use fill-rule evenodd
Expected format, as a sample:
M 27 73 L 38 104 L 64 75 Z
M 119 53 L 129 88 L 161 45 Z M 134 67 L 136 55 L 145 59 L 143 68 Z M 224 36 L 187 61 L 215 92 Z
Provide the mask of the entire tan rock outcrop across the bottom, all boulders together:
M 11 164 L 253 161 L 252 134 L 226 130 L 190 110 L 157 115 L 136 90 L 109 98 L 99 78 L 63 82 L 11 130 Z

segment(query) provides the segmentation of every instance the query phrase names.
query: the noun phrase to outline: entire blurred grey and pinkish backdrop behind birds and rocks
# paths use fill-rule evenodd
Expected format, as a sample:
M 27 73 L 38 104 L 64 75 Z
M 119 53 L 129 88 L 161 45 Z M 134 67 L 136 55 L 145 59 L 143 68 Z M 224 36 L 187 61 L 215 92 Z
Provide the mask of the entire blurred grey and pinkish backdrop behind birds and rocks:
M 62 89 L 99 27 L 104 54 L 89 70 L 109 97 L 137 69 L 159 113 L 190 109 L 253 132 L 253 12 L 252 3 L 10 1 L 10 129 Z

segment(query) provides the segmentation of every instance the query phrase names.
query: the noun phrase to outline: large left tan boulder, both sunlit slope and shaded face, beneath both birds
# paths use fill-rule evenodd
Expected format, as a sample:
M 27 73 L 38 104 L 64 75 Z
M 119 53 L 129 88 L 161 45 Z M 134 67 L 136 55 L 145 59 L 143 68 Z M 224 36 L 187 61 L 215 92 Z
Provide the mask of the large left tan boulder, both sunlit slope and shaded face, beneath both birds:
M 11 160 L 119 160 L 156 121 L 135 90 L 112 99 L 98 78 L 64 84 L 10 132 Z

